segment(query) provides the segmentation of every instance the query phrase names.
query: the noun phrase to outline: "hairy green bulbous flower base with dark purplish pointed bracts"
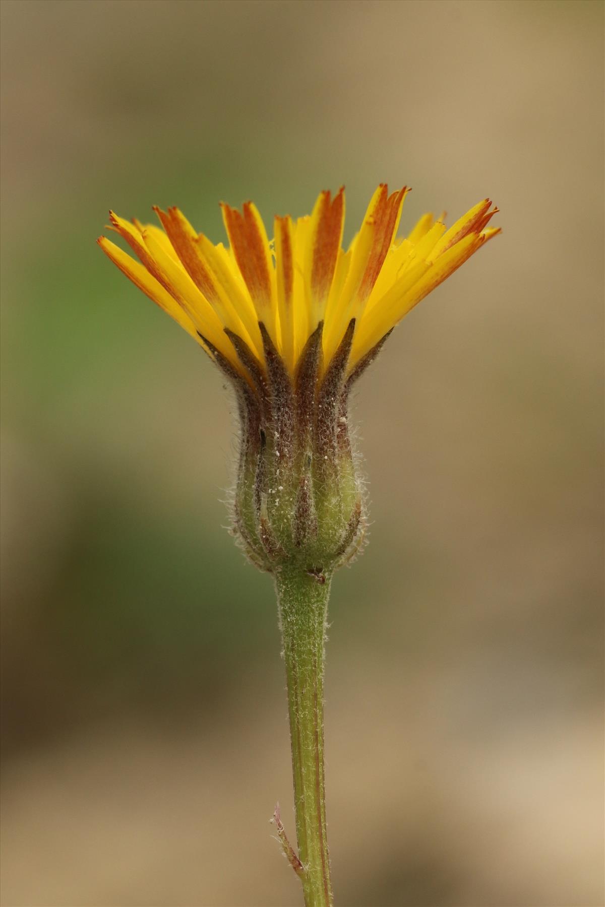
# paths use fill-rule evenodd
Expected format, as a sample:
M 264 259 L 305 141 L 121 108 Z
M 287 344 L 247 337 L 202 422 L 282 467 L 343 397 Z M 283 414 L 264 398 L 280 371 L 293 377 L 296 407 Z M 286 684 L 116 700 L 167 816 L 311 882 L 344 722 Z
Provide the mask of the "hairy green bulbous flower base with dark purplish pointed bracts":
M 353 557 L 365 531 L 347 417 L 346 365 L 355 321 L 323 376 L 320 322 L 293 379 L 259 327 L 266 369 L 254 369 L 252 387 L 229 375 L 241 422 L 234 530 L 262 569 L 297 565 L 321 581 Z M 242 359 L 251 374 L 245 351 Z

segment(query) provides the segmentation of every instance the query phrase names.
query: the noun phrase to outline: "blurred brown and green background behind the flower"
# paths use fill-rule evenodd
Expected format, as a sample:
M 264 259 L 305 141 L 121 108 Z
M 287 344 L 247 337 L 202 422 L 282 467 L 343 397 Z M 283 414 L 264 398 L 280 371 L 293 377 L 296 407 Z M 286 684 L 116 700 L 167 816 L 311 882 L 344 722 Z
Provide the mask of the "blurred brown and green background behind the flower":
M 371 543 L 334 583 L 342 907 L 598 907 L 603 7 L 12 2 L 3 57 L 5 907 L 285 907 L 271 581 L 223 527 L 218 372 L 107 210 L 376 184 L 503 235 L 356 397 Z

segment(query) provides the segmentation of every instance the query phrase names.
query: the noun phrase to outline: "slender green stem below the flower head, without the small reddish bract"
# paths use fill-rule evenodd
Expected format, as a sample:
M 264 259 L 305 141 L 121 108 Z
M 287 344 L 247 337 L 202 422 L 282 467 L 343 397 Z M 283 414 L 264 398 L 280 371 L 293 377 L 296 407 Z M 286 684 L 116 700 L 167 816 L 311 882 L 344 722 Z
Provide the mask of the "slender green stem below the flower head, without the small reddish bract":
M 324 652 L 330 578 L 298 565 L 276 573 L 288 678 L 298 858 L 306 907 L 332 907 L 324 785 Z

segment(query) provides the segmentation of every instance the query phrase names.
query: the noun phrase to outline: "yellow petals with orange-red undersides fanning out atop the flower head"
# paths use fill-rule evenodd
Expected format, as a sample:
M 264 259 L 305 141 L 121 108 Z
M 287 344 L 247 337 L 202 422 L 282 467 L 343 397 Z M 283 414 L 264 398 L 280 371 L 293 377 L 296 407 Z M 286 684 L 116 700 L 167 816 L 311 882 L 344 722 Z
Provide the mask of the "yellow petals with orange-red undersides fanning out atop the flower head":
M 290 375 L 308 337 L 323 322 L 323 370 L 355 318 L 348 361 L 359 362 L 421 299 L 500 232 L 484 199 L 449 229 L 424 214 L 404 239 L 396 232 L 408 189 L 374 193 L 348 249 L 342 248 L 345 192 L 321 192 L 310 217 L 276 217 L 268 240 L 259 211 L 221 206 L 229 249 L 198 234 L 177 208 L 155 208 L 161 229 L 111 213 L 112 226 L 138 261 L 101 237 L 99 245 L 143 293 L 207 351 L 246 375 L 237 335 L 265 368 L 259 323 Z M 236 337 L 237 340 L 237 337 Z

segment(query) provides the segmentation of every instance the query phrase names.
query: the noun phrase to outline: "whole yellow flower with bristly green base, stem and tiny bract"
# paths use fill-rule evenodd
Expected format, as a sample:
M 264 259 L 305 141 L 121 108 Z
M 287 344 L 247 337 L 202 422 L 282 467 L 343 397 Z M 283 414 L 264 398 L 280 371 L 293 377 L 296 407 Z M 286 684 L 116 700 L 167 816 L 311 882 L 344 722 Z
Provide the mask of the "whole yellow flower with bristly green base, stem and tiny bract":
M 198 234 L 176 208 L 161 227 L 111 214 L 138 261 L 102 237 L 103 251 L 193 336 L 229 379 L 239 409 L 233 532 L 270 573 L 288 681 L 297 844 L 278 808 L 278 838 L 306 907 L 334 903 L 327 848 L 324 660 L 327 601 L 338 567 L 361 550 L 363 485 L 349 434 L 352 385 L 393 327 L 493 237 L 489 199 L 447 229 L 424 215 L 396 239 L 406 192 L 374 193 L 342 249 L 345 195 L 322 192 L 310 217 L 275 219 L 223 205 L 229 249 Z

